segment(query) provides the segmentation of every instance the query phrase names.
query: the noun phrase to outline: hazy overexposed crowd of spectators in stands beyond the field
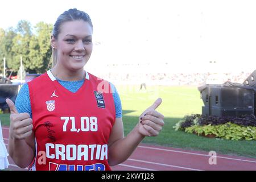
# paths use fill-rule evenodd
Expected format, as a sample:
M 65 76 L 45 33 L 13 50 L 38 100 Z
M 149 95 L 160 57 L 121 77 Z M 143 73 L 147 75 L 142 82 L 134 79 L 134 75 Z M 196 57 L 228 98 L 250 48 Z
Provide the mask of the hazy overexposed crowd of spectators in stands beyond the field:
M 199 86 L 204 84 L 223 84 L 226 81 L 242 84 L 251 73 L 135 73 L 135 72 L 108 72 L 97 75 L 114 82 L 115 84 L 142 84 Z

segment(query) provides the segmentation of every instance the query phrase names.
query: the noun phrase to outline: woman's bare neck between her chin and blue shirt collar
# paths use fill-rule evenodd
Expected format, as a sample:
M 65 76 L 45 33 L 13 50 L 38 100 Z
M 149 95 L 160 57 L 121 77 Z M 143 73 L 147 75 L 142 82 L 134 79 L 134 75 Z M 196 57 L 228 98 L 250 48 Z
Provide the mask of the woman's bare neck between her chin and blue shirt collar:
M 57 67 L 53 67 L 51 69 L 52 75 L 55 78 L 63 81 L 78 81 L 83 80 L 85 78 L 84 69 L 79 69 L 78 71 L 69 71 L 69 70 L 59 70 Z

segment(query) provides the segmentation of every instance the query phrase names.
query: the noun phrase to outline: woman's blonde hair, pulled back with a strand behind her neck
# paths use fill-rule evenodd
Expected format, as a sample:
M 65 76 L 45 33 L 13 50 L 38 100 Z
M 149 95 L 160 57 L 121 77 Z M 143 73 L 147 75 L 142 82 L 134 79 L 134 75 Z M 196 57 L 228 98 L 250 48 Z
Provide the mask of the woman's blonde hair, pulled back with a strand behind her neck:
M 88 22 L 90 26 L 93 28 L 92 20 L 90 19 L 90 16 L 87 13 L 77 9 L 69 9 L 68 11 L 64 11 L 64 13 L 57 18 L 53 26 L 52 37 L 57 40 L 58 35 L 60 34 L 61 24 L 65 22 L 74 21 L 74 20 L 80 20 L 80 19 L 84 20 L 85 22 Z M 48 64 L 48 68 L 53 68 L 56 65 L 56 63 L 57 63 L 57 49 L 52 47 L 52 55 Z

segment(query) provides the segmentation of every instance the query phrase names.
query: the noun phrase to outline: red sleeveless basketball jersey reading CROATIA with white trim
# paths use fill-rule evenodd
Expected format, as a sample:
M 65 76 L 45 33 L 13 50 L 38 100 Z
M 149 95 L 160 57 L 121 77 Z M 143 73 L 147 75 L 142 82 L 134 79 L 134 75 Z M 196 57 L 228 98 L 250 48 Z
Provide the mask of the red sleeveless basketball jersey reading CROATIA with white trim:
M 72 93 L 47 71 L 28 88 L 36 140 L 30 170 L 111 170 L 115 107 L 109 82 L 86 72 L 84 84 Z

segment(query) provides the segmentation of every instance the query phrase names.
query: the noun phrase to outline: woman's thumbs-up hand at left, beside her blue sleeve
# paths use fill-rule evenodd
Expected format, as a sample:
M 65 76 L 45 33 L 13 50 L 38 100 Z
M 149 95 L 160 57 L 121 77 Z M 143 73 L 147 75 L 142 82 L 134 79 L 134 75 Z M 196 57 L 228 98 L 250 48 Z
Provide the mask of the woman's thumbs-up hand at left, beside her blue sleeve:
M 32 133 L 32 119 L 28 113 L 18 113 L 13 101 L 6 99 L 7 105 L 10 107 L 10 138 L 25 139 Z

